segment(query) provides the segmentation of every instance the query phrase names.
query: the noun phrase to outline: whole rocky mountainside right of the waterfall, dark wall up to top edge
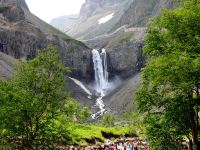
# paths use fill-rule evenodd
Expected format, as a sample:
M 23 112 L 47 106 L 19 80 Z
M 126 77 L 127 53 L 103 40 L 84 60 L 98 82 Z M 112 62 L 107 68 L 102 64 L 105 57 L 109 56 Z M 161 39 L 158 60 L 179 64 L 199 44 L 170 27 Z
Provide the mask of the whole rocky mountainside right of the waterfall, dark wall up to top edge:
M 159 15 L 162 9 L 173 9 L 177 5 L 177 2 L 175 3 L 173 0 L 133 1 L 119 22 L 109 32 L 111 34 L 124 27 L 120 30 L 122 33 L 116 34 L 107 40 L 105 45 L 102 45 L 109 49 L 113 68 L 119 75 L 130 76 L 143 66 L 145 60 L 142 56 L 142 48 L 149 19 Z M 122 37 L 120 37 L 121 34 Z

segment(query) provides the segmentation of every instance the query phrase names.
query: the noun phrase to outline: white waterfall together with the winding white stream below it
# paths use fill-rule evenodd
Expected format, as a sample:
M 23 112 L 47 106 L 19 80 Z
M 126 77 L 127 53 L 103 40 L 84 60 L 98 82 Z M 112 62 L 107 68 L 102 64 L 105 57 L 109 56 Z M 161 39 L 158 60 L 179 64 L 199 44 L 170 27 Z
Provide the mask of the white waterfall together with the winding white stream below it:
M 92 118 L 95 119 L 96 116 L 103 115 L 105 112 L 105 105 L 102 98 L 105 96 L 106 90 L 109 88 L 106 50 L 102 49 L 100 53 L 98 50 L 94 49 L 92 51 L 92 58 L 95 72 L 95 90 L 100 94 L 99 98 L 96 100 L 96 105 L 100 111 L 92 115 Z

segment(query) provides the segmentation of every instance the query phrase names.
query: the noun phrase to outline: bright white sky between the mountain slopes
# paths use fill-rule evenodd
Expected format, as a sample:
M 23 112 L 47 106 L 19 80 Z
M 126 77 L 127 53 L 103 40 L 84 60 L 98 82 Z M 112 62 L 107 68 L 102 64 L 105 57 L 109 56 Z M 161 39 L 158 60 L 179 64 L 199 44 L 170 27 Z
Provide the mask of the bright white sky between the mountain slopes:
M 49 23 L 52 19 L 78 14 L 85 0 L 25 0 L 30 11 Z

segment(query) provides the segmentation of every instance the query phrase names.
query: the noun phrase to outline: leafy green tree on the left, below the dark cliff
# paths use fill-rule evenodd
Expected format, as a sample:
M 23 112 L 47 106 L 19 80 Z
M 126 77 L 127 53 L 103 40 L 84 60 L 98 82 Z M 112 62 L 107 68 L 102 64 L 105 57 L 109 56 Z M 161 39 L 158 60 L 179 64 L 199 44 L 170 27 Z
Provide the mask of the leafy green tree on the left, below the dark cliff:
M 0 83 L 0 135 L 22 138 L 31 148 L 64 108 L 68 70 L 53 46 L 38 51 L 31 61 L 21 61 L 14 78 Z

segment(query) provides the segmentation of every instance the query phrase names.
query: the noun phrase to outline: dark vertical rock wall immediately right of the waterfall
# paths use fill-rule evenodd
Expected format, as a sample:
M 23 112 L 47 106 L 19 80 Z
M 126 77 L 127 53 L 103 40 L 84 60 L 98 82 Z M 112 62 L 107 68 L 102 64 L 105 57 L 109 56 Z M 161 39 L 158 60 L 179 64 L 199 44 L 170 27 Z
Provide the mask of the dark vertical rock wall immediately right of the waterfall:
M 143 42 L 126 43 L 118 48 L 108 49 L 110 72 L 123 79 L 129 78 L 143 66 Z

